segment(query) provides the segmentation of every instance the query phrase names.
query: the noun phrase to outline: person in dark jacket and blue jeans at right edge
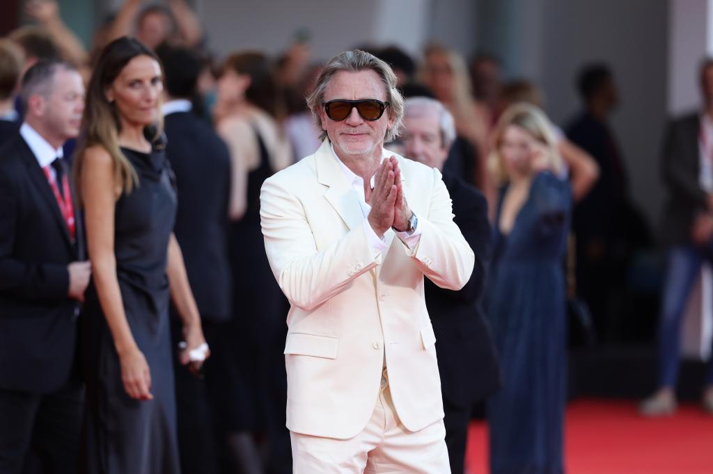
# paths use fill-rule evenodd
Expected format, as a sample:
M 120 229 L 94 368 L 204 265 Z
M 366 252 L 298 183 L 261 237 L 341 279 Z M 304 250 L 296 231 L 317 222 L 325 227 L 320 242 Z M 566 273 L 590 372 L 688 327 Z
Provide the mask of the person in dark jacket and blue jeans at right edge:
M 703 61 L 703 109 L 673 120 L 663 151 L 663 179 L 669 196 L 663 238 L 667 275 L 660 320 L 658 391 L 642 402 L 642 414 L 660 416 L 676 409 L 681 320 L 701 265 L 713 264 L 713 59 Z M 709 362 L 704 409 L 713 414 L 713 359 Z

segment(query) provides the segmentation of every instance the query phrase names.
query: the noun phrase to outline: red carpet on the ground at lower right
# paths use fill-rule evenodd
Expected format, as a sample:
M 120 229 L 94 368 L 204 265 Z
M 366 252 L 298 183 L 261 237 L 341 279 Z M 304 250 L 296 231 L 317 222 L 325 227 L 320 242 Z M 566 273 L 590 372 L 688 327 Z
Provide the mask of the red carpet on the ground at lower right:
M 713 416 L 697 405 L 648 419 L 627 401 L 575 401 L 565 431 L 568 474 L 712 474 Z M 487 433 L 473 423 L 466 465 L 486 474 Z

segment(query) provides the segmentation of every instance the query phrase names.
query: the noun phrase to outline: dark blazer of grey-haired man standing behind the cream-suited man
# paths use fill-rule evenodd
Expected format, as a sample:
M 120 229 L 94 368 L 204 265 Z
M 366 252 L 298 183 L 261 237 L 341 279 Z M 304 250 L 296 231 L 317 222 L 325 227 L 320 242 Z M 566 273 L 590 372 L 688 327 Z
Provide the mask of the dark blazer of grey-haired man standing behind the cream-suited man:
M 459 291 L 444 290 L 426 280 L 426 307 L 436 333 L 443 398 L 466 407 L 500 387 L 491 330 L 481 309 L 492 233 L 483 194 L 452 174 L 443 174 L 443 183 L 453 201 L 453 220 L 476 254 L 476 265 Z

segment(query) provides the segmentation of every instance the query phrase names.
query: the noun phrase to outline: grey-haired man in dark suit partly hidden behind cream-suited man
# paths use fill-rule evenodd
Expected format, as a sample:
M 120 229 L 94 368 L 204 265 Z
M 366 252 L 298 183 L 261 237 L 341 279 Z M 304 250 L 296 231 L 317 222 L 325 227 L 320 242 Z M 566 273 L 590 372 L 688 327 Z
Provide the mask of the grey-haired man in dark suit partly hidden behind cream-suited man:
M 406 100 L 406 157 L 442 170 L 455 137 L 453 117 L 441 102 L 431 98 Z M 426 280 L 426 307 L 436 333 L 448 456 L 451 472 L 462 474 L 472 407 L 500 386 L 495 349 L 480 305 L 492 236 L 483 194 L 453 174 L 444 173 L 443 182 L 453 201 L 453 221 L 476 254 L 473 275 L 461 290 L 444 290 Z

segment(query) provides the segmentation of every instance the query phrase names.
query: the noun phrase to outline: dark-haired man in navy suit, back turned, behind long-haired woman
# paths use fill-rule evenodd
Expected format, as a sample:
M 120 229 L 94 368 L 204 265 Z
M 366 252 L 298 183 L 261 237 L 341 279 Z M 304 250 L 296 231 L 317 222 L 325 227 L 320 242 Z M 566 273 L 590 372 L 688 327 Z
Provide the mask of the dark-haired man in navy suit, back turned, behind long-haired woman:
M 230 268 L 227 256 L 227 205 L 230 155 L 191 100 L 198 99 L 203 65 L 192 51 L 161 46 L 165 70 L 166 155 L 178 188 L 175 236 L 180 243 L 190 287 L 200 310 L 212 355 L 204 366 L 205 381 L 177 367 L 178 441 L 184 474 L 217 472 L 214 410 L 216 392 L 226 377 L 220 371 L 221 323 L 230 317 Z M 180 321 L 172 318 L 174 342 L 182 340 Z M 212 401 L 212 403 L 211 403 Z

